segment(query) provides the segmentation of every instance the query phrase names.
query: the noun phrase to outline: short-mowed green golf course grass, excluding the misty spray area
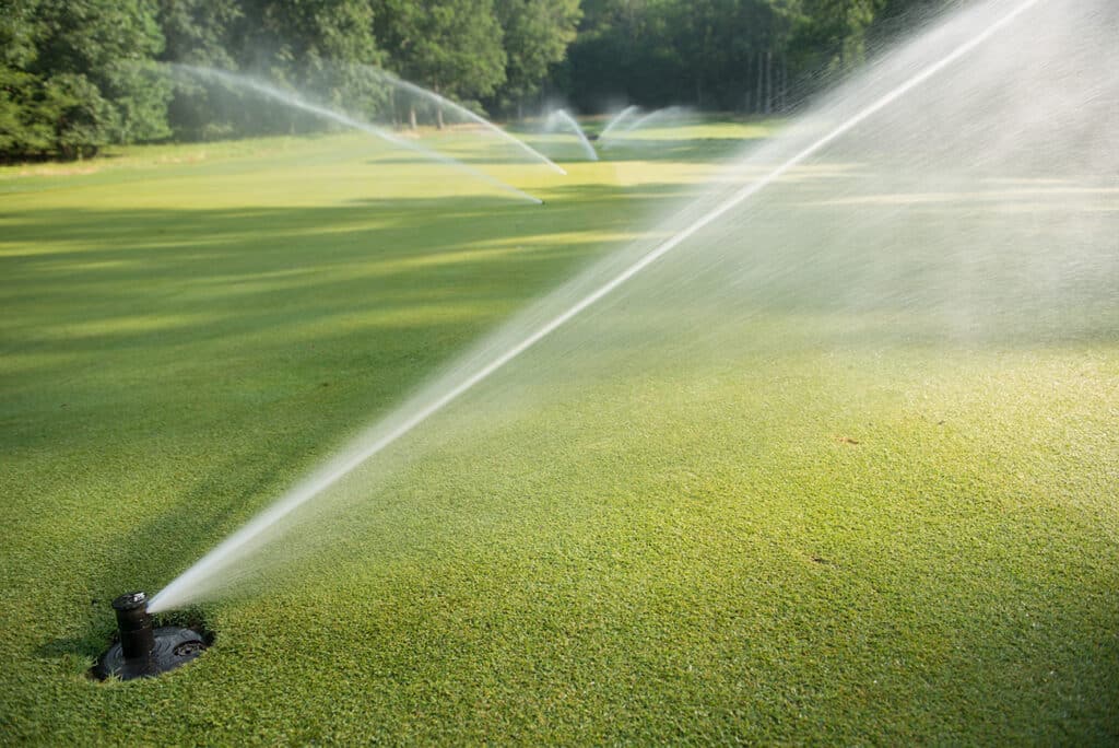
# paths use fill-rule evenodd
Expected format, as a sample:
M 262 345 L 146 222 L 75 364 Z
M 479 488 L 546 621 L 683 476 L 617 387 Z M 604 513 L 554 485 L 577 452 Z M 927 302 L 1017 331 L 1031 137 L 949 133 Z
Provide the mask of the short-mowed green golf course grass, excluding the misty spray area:
M 433 420 L 203 606 L 198 662 L 86 677 L 114 596 L 758 134 L 709 127 L 487 166 L 544 206 L 349 137 L 0 174 L 3 740 L 1119 739 L 1116 336 L 817 346 L 849 320 L 780 310 L 749 357 Z

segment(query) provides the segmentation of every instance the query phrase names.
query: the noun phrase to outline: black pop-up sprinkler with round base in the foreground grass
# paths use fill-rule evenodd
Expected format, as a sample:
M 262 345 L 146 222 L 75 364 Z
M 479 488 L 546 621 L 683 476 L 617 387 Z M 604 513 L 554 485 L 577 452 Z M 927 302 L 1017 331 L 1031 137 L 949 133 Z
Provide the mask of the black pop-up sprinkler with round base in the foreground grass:
M 176 626 L 152 627 L 148 596 L 129 592 L 113 600 L 121 641 L 97 660 L 94 674 L 122 681 L 152 677 L 185 665 L 206 648 L 198 632 Z

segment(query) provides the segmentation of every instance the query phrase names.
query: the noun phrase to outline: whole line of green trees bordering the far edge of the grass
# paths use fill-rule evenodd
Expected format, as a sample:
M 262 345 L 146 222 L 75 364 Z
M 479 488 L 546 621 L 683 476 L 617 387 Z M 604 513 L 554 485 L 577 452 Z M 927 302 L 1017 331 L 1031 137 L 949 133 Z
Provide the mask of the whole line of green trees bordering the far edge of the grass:
M 169 64 L 413 124 L 375 69 L 502 116 L 548 97 L 780 112 L 944 1 L 0 0 L 0 158 L 323 127 Z

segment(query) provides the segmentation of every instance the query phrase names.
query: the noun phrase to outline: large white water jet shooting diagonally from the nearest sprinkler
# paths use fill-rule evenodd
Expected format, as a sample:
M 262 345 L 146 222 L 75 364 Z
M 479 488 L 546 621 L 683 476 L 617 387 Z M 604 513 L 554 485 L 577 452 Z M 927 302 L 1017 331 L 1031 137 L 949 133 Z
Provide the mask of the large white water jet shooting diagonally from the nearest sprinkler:
M 733 187 L 728 194 L 713 202 L 702 199 L 693 204 L 679 217 L 666 224 L 661 232 L 666 239 L 660 243 L 652 247 L 637 245 L 608 258 L 514 320 L 472 355 L 467 356 L 461 365 L 421 389 L 401 408 L 355 440 L 336 459 L 293 487 L 276 503 L 207 553 L 160 591 L 153 599 L 151 609 L 156 611 L 176 608 L 217 593 L 226 585 L 231 573 L 237 570 L 238 564 L 274 537 L 273 533 L 298 508 L 322 495 L 359 465 L 413 431 L 557 329 L 572 322 L 590 307 L 614 294 L 652 265 L 660 264 L 674 250 L 685 245 L 694 246 L 696 242 L 693 240 L 702 232 L 731 219 L 739 208 L 759 193 L 782 177 L 790 176 L 797 167 L 836 143 L 846 133 L 900 100 L 911 96 L 949 69 L 957 69 L 961 77 L 974 75 L 970 71 L 960 69 L 965 58 L 996 35 L 1007 32 L 1012 26 L 1025 27 L 1026 19 L 1022 17 L 1035 6 L 1045 2 L 1062 4 L 1062 0 L 1017 2 L 991 0 L 978 8 L 958 13 L 922 37 L 923 46 L 912 45 L 897 50 L 858 81 L 844 86 L 828 102 L 806 115 L 788 135 L 775 139 L 736 165 L 740 175 L 742 171 L 751 170 L 758 174 L 756 178 Z M 1068 3 L 1064 6 L 1068 7 Z M 919 46 L 921 48 L 916 48 Z M 1111 85 L 1113 88 L 1113 84 Z M 942 88 L 950 90 L 951 86 L 941 86 L 937 91 L 938 95 L 943 93 Z M 1113 92 L 1108 92 L 1108 95 L 1112 94 Z M 1100 94 L 1088 91 L 1083 95 L 1091 97 Z M 938 110 L 932 107 L 930 111 Z M 967 123 L 959 124 L 962 128 Z M 1015 132 L 1019 131 L 1021 129 Z M 984 134 L 990 137 L 991 133 Z M 962 157 L 972 158 L 969 155 Z M 902 155 L 897 155 L 897 158 L 904 161 Z M 793 223 L 794 219 L 796 216 Z M 1096 225 L 1098 224 L 1093 224 Z M 1083 234 L 1084 230 L 1078 231 Z M 1092 237 L 1096 235 L 1091 234 Z M 706 233 L 703 234 L 703 239 L 706 241 Z M 721 256 L 706 259 L 714 263 Z M 698 271 L 693 269 L 689 272 Z

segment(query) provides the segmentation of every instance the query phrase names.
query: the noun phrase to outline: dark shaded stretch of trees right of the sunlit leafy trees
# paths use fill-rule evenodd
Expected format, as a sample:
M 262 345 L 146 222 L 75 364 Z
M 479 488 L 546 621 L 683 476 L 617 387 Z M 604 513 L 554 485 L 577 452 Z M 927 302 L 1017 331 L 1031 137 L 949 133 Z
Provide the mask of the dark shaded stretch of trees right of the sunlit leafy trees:
M 947 0 L 584 0 L 553 84 L 577 107 L 771 114 L 865 62 Z

